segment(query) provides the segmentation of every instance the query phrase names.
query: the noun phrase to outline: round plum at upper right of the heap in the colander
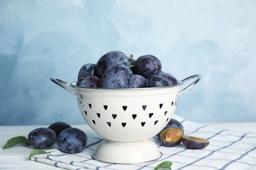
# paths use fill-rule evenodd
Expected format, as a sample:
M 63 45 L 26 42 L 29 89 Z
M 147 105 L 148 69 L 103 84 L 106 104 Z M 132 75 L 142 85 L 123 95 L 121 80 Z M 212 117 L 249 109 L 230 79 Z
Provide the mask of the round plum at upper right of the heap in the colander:
M 147 54 L 140 56 L 135 61 L 135 73 L 147 78 L 150 75 L 158 75 L 161 71 L 161 61 L 156 56 Z

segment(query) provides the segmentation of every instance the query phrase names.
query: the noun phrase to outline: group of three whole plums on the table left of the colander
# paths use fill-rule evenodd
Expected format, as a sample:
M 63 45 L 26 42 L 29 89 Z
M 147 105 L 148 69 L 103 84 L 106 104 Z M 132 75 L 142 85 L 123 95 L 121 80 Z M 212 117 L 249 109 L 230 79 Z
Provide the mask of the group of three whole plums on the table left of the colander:
M 30 131 L 28 142 L 37 149 L 50 148 L 56 143 L 62 152 L 75 154 L 85 150 L 87 135 L 69 124 L 55 122 L 49 127 L 39 127 Z

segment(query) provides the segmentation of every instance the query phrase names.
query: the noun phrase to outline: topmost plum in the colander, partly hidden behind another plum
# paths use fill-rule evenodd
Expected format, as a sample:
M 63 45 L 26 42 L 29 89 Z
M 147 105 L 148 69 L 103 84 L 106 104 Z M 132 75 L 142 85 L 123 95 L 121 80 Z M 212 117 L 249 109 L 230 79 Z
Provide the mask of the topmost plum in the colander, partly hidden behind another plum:
M 98 77 L 101 78 L 101 76 L 108 67 L 112 67 L 116 64 L 124 64 L 129 67 L 131 65 L 131 62 L 129 61 L 129 59 L 127 59 L 123 52 L 117 50 L 108 52 L 104 54 L 100 59 L 98 59 L 96 63 Z

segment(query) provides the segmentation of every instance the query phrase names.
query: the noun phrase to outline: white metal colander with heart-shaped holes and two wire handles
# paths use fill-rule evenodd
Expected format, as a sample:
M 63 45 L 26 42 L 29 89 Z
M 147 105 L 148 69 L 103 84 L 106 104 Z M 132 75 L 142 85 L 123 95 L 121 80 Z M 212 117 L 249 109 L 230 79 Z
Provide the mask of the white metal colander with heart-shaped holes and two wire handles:
M 181 85 L 192 78 L 196 80 L 180 91 Z M 176 86 L 134 89 L 81 88 L 77 82 L 51 80 L 77 97 L 83 118 L 104 138 L 93 158 L 109 163 L 141 163 L 161 157 L 150 138 L 171 120 L 179 95 L 200 78 L 192 75 Z

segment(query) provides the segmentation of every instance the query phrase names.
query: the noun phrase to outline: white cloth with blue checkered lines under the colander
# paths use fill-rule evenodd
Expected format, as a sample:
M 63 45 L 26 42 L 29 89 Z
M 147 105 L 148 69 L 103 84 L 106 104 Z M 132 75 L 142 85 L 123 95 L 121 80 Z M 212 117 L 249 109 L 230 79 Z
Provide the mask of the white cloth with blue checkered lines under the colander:
M 66 154 L 59 150 L 51 154 L 40 154 L 33 156 L 32 160 L 62 167 L 64 169 L 154 169 L 162 161 L 172 161 L 172 169 L 256 169 L 256 133 L 255 129 L 250 131 L 231 131 L 221 127 L 205 126 L 186 120 L 177 115 L 173 116 L 184 126 L 185 135 L 192 135 L 207 139 L 210 143 L 202 150 L 187 149 L 184 144 L 174 147 L 162 146 L 158 137 L 154 141 L 163 156 L 150 163 L 120 165 L 102 163 L 91 158 L 96 146 L 102 138 L 96 135 L 90 128 L 88 130 L 94 135 L 90 137 L 87 148 L 79 154 Z M 254 132 L 253 132 L 254 131 Z

